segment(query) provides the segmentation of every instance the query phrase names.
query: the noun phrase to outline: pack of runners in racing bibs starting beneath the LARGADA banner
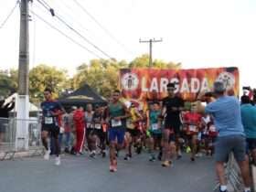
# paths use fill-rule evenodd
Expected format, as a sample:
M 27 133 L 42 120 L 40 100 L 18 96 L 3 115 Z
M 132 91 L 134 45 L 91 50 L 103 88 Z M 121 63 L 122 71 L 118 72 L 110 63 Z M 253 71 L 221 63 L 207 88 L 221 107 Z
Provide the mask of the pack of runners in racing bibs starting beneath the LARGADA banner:
M 86 147 L 91 157 L 95 157 L 97 148 L 105 157 L 106 144 L 109 144 L 111 172 L 117 171 L 117 155 L 122 149 L 125 150 L 124 160 L 129 160 L 133 151 L 140 154 L 145 147 L 149 161 L 161 160 L 165 167 L 172 165 L 174 158 L 181 158 L 182 150 L 191 153 L 191 161 L 195 161 L 196 154 L 202 149 L 200 146 L 212 155 L 212 140 L 217 132 L 211 117 L 199 114 L 193 102 L 186 102 L 175 94 L 174 83 L 169 83 L 166 90 L 167 97 L 162 101 L 147 101 L 145 110 L 136 102 L 120 101 L 121 92 L 113 91 L 105 107 L 96 105 L 93 111 L 92 105 L 88 104 L 85 110 L 72 107 L 66 113 L 46 89 L 46 101 L 41 103 L 44 158 L 55 154 L 56 165 L 60 165 L 59 142 L 62 139 L 59 135 L 62 138 L 63 134 L 66 138 L 64 151 L 73 155 L 83 154 Z M 48 146 L 48 133 L 54 147 Z M 75 134 L 73 144 L 70 144 L 70 133 Z

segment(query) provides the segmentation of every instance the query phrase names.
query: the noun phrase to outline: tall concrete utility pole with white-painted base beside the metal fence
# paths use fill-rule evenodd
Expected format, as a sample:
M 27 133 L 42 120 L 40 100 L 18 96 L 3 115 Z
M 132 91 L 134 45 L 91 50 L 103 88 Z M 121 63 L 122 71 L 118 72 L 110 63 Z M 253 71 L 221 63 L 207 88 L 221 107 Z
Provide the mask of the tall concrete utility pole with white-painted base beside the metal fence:
M 28 71 L 29 71 L 29 12 L 28 2 L 20 1 L 20 35 L 18 59 L 18 98 L 16 101 L 16 150 L 28 149 Z

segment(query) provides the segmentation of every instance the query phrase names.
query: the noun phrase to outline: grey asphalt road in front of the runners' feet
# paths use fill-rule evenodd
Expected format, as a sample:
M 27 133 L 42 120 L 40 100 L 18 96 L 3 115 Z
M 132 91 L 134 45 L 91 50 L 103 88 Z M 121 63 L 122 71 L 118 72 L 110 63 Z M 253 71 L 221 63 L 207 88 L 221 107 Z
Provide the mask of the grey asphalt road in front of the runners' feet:
M 108 157 L 62 155 L 61 165 L 42 156 L 0 162 L 0 192 L 211 192 L 216 177 L 210 157 L 190 162 L 187 155 L 172 167 L 148 161 L 148 155 L 118 160 L 109 172 Z

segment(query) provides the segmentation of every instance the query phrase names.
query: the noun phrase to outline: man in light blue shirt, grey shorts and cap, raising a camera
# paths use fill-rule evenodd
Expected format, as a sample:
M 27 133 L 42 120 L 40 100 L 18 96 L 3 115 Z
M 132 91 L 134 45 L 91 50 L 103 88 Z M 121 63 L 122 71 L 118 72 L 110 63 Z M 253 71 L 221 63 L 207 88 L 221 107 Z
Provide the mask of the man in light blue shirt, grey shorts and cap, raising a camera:
M 233 152 L 240 166 L 245 186 L 244 192 L 251 192 L 251 177 L 246 159 L 246 141 L 241 123 L 240 101 L 235 96 L 226 96 L 226 89 L 220 81 L 214 83 L 213 90 L 216 100 L 212 99 L 206 107 L 200 102 L 203 95 L 199 94 L 197 112 L 211 114 L 219 132 L 215 143 L 215 168 L 219 177 L 219 191 L 227 192 L 224 163 L 228 161 L 229 154 Z

